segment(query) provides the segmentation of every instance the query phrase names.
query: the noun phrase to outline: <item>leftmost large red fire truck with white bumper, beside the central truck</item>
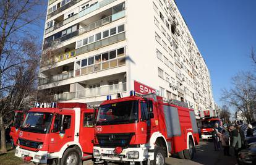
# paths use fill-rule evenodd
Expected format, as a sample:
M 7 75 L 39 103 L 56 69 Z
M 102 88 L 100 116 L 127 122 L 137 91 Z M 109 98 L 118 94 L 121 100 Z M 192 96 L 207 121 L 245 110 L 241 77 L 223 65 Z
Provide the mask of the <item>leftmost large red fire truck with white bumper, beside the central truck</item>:
M 84 103 L 55 107 L 28 111 L 15 156 L 35 164 L 79 164 L 92 158 L 95 109 L 87 109 Z

